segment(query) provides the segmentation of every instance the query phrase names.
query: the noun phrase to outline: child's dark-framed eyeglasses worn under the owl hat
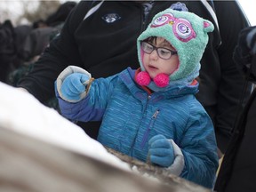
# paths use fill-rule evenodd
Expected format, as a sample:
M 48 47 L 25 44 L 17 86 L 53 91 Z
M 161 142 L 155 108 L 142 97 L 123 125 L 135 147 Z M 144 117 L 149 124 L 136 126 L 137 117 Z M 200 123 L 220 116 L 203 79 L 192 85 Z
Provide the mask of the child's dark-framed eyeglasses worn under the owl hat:
M 163 60 L 169 60 L 172 55 L 177 54 L 177 52 L 163 47 L 156 47 L 153 44 L 149 44 L 148 42 L 141 42 L 140 46 L 142 50 L 148 54 L 151 54 L 151 52 L 156 50 L 158 57 L 162 58 Z

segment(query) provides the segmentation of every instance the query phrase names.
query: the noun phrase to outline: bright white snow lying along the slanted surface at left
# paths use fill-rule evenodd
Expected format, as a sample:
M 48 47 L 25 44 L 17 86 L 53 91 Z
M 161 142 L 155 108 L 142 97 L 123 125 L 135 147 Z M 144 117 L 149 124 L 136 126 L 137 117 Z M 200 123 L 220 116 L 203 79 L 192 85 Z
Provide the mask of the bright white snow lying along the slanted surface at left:
M 80 127 L 45 107 L 30 93 L 1 82 L 0 92 L 1 127 L 131 172 L 128 164 L 109 154 L 97 140 L 92 140 Z

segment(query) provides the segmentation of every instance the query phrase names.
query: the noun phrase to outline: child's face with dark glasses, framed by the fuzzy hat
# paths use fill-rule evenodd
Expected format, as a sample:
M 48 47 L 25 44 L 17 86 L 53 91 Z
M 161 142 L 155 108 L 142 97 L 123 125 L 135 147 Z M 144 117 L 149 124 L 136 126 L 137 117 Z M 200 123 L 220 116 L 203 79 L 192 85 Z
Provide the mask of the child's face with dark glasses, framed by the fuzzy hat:
M 177 54 L 172 54 L 171 58 L 166 59 L 168 58 L 168 54 L 170 56 L 170 52 L 168 50 L 175 52 L 175 49 L 162 37 L 156 37 L 156 41 L 150 42 L 149 45 L 146 44 L 146 49 L 151 48 L 150 44 L 156 46 L 156 48 L 161 47 L 167 50 L 158 49 L 158 53 L 162 52 L 160 55 L 162 58 L 159 57 L 158 53 L 156 52 L 156 49 L 151 53 L 144 52 L 142 60 L 145 70 L 148 72 L 151 78 L 155 78 L 155 76 L 160 73 L 164 73 L 170 76 L 179 67 L 179 57 Z

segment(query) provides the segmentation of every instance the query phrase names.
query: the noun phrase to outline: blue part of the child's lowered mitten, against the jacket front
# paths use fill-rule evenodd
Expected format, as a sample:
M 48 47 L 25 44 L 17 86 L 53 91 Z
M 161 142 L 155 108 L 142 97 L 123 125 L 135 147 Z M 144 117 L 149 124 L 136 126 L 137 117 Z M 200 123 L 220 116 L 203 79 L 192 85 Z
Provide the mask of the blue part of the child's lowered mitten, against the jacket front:
M 158 134 L 149 141 L 149 158 L 151 163 L 169 167 L 174 161 L 172 143 L 164 135 Z

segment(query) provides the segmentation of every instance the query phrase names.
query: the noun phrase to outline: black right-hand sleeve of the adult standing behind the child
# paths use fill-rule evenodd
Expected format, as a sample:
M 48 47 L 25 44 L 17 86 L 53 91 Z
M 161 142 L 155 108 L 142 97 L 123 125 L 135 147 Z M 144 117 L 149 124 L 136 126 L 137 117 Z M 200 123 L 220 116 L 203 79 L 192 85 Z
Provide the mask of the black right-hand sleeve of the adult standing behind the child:
M 237 118 L 237 107 L 242 100 L 245 103 L 252 92 L 252 84 L 245 86 L 245 79 L 236 67 L 233 58 L 238 35 L 241 29 L 249 25 L 236 1 L 214 1 L 220 26 L 221 42 L 217 50 L 220 60 L 220 84 L 217 95 L 217 114 L 215 116 L 216 136 L 218 134 L 231 136 Z M 226 143 L 218 143 L 219 148 L 225 151 Z

